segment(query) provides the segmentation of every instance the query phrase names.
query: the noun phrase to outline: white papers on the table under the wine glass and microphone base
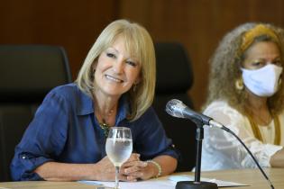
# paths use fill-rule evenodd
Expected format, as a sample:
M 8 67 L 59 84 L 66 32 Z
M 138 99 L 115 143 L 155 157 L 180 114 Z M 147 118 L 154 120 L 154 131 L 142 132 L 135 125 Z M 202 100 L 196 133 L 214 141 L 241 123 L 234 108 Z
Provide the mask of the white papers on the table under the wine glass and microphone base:
M 160 189 L 174 189 L 177 182 L 179 181 L 194 181 L 194 176 L 192 175 L 168 175 L 162 176 L 158 179 L 150 179 L 146 181 L 138 181 L 138 182 L 119 182 L 121 189 L 145 189 L 145 188 L 160 188 Z M 212 178 L 203 178 L 201 177 L 201 181 L 211 182 L 218 185 L 218 187 L 228 187 L 228 186 L 244 186 L 247 184 L 239 184 L 233 182 L 227 182 Z M 102 182 L 102 181 L 79 181 L 83 184 L 94 184 L 100 185 L 100 188 L 103 189 L 105 187 L 113 188 L 115 186 L 115 182 Z

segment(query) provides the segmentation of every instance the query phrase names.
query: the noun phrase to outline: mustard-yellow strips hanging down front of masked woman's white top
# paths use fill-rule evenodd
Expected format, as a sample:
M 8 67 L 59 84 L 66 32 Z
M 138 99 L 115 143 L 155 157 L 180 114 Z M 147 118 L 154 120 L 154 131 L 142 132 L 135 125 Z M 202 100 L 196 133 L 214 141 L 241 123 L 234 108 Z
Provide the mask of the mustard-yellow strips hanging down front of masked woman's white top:
M 272 119 L 274 121 L 274 128 L 275 128 L 275 137 L 274 137 L 274 144 L 279 145 L 280 144 L 280 122 L 279 122 L 279 117 L 275 115 L 274 113 L 272 114 Z M 248 113 L 247 117 L 250 121 L 250 124 L 252 126 L 252 132 L 253 135 L 255 136 L 256 139 L 259 139 L 263 142 L 262 136 L 261 136 L 261 130 L 259 126 L 253 121 L 252 116 Z

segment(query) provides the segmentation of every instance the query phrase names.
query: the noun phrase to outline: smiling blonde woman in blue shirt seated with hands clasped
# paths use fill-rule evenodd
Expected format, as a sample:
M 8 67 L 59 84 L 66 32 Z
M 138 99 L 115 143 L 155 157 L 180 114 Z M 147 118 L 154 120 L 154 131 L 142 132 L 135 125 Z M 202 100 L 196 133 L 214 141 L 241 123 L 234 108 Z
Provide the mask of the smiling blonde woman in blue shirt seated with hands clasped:
M 119 126 L 132 130 L 135 152 L 122 166 L 121 180 L 172 173 L 178 156 L 151 108 L 155 68 L 148 31 L 125 20 L 110 23 L 76 82 L 51 90 L 35 113 L 15 148 L 14 180 L 115 180 L 105 138 Z

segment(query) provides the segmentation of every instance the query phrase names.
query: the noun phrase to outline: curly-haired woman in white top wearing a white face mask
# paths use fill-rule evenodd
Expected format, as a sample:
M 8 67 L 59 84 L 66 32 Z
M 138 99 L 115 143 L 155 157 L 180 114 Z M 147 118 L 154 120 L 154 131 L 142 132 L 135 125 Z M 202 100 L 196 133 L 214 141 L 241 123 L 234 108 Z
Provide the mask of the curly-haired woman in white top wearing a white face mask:
M 233 130 L 261 166 L 284 167 L 284 31 L 245 23 L 227 33 L 210 60 L 204 113 Z M 256 167 L 230 133 L 205 128 L 202 170 Z

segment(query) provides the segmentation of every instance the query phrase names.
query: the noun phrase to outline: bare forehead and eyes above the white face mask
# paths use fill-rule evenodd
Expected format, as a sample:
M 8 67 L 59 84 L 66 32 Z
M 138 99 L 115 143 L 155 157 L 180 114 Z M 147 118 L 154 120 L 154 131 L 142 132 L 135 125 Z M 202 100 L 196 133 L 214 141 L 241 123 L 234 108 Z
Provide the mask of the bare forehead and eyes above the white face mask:
M 246 51 L 246 58 L 243 61 L 243 68 L 259 69 L 268 64 L 275 64 L 279 67 L 282 67 L 280 51 L 274 42 L 257 42 Z

